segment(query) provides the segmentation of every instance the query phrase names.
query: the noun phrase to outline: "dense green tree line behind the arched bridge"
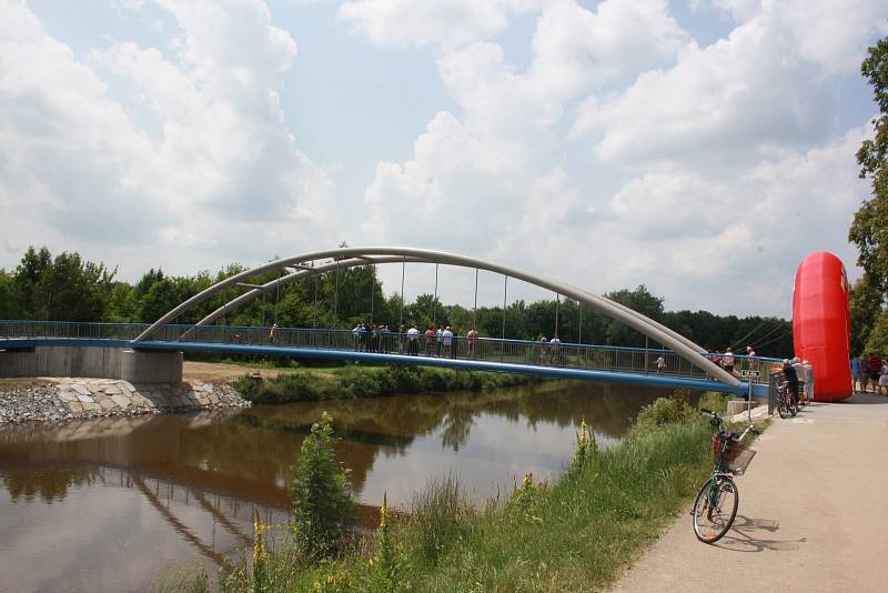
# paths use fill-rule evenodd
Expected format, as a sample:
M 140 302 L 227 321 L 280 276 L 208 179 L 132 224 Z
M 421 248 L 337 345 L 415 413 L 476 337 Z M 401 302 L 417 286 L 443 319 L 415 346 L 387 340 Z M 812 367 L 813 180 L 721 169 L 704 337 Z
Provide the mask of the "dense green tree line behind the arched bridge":
M 0 319 L 105 321 L 150 323 L 179 303 L 213 283 L 244 271 L 233 263 L 215 274 L 169 275 L 160 269 L 147 271 L 135 283 L 118 279 L 117 269 L 85 261 L 77 252 L 53 257 L 47 248 L 29 248 L 19 265 L 0 269 Z M 251 279 L 264 284 L 285 272 Z M 232 288 L 184 313 L 176 323 L 196 323 L 244 288 Z M 751 344 L 760 355 L 784 356 L 793 351 L 791 325 L 777 318 L 715 315 L 707 311 L 665 311 L 663 299 L 644 285 L 605 294 L 709 349 Z M 623 323 L 596 313 L 569 299 L 523 300 L 502 306 L 442 303 L 433 294 L 420 294 L 402 304 L 400 294 L 385 295 L 372 265 L 317 274 L 271 290 L 216 323 L 291 328 L 351 329 L 359 322 L 418 328 L 451 325 L 460 335 L 475 326 L 482 336 L 534 340 L 558 334 L 564 342 L 656 346 Z

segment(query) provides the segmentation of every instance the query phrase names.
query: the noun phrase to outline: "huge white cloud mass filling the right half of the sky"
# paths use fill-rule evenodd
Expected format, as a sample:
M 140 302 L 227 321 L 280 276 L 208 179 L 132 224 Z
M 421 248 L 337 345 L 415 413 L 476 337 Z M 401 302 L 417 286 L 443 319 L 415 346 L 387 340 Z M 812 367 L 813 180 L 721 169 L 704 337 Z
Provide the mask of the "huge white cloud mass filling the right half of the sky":
M 380 163 L 373 237 L 599 292 L 646 283 L 673 308 L 788 315 L 807 253 L 854 263 L 864 132 L 837 138 L 831 64 L 803 56 L 771 8 L 737 10 L 744 22 L 700 48 L 663 2 L 551 2 L 524 72 L 490 41 L 440 48 L 461 111 L 438 113 L 411 160 Z M 588 92 L 565 138 L 564 113 Z M 562 164 L 589 141 L 634 171 L 609 195 Z

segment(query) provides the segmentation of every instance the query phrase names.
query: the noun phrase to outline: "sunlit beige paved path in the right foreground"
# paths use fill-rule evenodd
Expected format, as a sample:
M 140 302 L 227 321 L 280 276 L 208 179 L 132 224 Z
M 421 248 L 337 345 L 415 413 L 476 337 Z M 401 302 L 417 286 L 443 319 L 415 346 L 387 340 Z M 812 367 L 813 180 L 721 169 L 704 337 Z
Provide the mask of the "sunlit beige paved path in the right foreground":
M 731 531 L 700 543 L 687 509 L 615 591 L 888 591 L 888 398 L 777 416 L 753 448 Z

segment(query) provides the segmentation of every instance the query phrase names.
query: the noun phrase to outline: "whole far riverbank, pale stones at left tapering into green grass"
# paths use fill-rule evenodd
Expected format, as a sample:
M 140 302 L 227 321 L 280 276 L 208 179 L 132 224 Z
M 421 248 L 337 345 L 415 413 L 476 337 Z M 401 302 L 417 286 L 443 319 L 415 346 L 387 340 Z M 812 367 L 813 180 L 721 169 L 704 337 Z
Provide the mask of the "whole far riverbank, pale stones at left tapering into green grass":
M 184 378 L 181 383 L 139 384 L 82 378 L 0 380 L 0 425 L 377 398 L 393 393 L 490 391 L 543 381 L 532 375 L 408 366 L 279 370 L 210 363 L 186 363 Z

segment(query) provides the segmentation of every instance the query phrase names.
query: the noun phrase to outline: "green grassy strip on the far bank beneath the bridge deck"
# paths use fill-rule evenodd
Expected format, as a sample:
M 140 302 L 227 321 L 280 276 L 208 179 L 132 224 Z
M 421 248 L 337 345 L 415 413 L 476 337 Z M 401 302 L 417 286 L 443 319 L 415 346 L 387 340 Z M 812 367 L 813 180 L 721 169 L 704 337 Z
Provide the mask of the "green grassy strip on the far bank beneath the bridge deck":
M 357 366 L 333 373 L 295 370 L 274 378 L 244 375 L 234 388 L 253 403 L 287 403 L 375 398 L 394 393 L 486 391 L 542 381 L 532 375 L 425 369 L 421 366 Z

